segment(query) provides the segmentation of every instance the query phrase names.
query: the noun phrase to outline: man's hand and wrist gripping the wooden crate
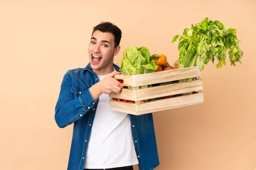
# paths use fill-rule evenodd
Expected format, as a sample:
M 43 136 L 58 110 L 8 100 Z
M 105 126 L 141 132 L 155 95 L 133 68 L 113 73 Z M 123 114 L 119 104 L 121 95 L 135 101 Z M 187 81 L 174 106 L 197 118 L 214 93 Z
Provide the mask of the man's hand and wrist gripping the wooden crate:
M 116 74 L 121 74 L 121 72 L 113 71 L 112 73 L 107 74 L 107 76 L 100 82 L 96 83 L 91 88 L 89 88 L 94 100 L 98 99 L 99 96 L 103 93 L 117 94 L 121 91 L 121 89 L 123 88 L 122 83 L 113 78 Z

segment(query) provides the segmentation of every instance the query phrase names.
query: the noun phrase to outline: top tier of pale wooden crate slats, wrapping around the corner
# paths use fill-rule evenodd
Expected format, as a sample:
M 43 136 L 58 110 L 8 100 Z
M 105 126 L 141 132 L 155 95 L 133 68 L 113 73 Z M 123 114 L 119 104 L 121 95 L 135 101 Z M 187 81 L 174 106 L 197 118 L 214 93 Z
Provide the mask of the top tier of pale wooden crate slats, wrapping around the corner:
M 115 79 L 123 79 L 123 85 L 132 87 L 151 85 L 160 82 L 169 82 L 180 79 L 188 79 L 193 77 L 201 77 L 201 71 L 199 70 L 199 66 L 132 76 L 119 74 L 116 74 L 114 76 Z

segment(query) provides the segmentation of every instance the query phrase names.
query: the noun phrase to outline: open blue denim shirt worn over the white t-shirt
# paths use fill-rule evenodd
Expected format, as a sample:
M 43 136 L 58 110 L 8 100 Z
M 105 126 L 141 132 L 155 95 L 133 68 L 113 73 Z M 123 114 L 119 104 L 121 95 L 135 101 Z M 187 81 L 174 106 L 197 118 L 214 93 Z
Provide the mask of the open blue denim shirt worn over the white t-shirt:
M 117 65 L 113 66 L 119 71 Z M 87 145 L 98 104 L 98 100 L 92 98 L 89 88 L 97 82 L 99 78 L 90 63 L 86 68 L 68 70 L 62 80 L 55 107 L 55 121 L 60 128 L 74 123 L 67 170 L 84 169 Z M 152 113 L 129 115 L 139 170 L 153 170 L 159 165 L 159 159 Z

